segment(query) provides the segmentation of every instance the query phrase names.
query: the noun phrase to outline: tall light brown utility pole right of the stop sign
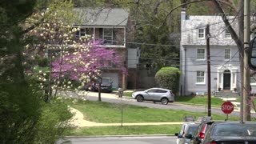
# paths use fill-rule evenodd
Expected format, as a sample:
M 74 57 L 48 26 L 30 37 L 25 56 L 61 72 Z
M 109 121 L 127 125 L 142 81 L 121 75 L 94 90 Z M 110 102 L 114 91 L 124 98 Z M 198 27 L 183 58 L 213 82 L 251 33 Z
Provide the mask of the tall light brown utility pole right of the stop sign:
M 243 121 L 250 121 L 250 69 L 248 65 L 248 49 L 250 42 L 250 0 L 244 1 L 244 76 L 243 76 Z

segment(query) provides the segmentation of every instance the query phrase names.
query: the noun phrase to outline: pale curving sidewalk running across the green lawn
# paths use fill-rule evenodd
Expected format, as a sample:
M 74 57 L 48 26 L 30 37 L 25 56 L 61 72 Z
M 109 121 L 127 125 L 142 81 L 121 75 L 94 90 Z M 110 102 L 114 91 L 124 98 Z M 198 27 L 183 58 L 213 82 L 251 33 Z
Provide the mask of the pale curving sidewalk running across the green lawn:
M 70 111 L 74 114 L 72 118 L 72 125 L 77 127 L 90 127 L 90 126 L 121 126 L 121 123 L 98 123 L 98 122 L 90 122 L 84 119 L 83 114 L 74 109 L 70 108 Z M 122 123 L 122 126 L 146 126 L 146 125 L 180 125 L 183 122 L 143 122 L 143 123 Z

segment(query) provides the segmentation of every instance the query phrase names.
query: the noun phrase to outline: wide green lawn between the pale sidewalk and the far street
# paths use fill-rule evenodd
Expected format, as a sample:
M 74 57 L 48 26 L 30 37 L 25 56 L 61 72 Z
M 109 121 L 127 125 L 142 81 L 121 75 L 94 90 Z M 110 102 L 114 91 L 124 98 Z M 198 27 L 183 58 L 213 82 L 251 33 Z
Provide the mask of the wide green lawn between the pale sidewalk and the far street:
M 78 102 L 72 105 L 80 110 L 87 120 L 92 122 L 121 122 L 121 107 L 119 104 L 107 102 Z M 141 106 L 123 105 L 123 122 L 182 122 L 186 115 L 194 115 L 196 118 L 206 116 L 206 113 L 190 112 L 185 110 L 160 110 Z M 213 114 L 214 119 L 224 120 L 226 115 Z M 230 119 L 237 119 L 230 117 Z

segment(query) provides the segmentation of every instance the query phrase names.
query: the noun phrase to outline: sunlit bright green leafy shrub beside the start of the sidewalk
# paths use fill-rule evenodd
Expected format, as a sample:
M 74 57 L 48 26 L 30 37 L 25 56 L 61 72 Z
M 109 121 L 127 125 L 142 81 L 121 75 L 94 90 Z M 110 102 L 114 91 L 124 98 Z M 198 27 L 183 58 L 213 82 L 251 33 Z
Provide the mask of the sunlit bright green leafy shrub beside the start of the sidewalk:
M 59 138 L 63 137 L 66 131 L 70 130 L 69 119 L 72 118 L 67 103 L 62 100 L 53 100 L 44 103 L 42 106 L 42 116 L 38 122 L 37 142 L 56 143 Z

